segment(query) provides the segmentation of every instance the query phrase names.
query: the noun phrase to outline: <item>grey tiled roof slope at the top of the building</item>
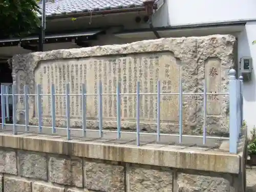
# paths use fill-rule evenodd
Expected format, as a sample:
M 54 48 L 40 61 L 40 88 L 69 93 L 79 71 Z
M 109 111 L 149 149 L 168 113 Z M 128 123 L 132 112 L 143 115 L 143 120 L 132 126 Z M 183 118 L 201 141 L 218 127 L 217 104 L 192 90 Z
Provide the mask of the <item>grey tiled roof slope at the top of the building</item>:
M 145 0 L 46 0 L 46 16 L 143 7 Z M 41 8 L 41 3 L 39 4 Z M 40 16 L 40 15 L 38 15 Z

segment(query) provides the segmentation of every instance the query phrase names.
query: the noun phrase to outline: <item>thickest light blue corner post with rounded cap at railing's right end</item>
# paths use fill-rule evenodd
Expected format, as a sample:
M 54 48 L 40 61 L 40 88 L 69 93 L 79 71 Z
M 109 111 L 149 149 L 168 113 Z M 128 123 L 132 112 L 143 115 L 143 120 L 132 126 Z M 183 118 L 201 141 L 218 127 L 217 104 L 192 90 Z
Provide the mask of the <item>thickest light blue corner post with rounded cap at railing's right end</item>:
M 229 153 L 238 151 L 236 70 L 229 70 Z

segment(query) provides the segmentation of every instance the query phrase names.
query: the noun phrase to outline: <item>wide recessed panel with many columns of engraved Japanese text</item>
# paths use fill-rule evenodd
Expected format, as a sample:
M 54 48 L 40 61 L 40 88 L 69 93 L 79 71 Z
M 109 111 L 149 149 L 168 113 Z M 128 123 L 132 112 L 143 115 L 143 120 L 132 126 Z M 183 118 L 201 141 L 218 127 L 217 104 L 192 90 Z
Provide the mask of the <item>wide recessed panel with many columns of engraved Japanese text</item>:
M 117 82 L 121 84 L 121 93 L 135 93 L 137 81 L 140 81 L 140 93 L 156 93 L 157 81 L 160 80 L 161 92 L 178 93 L 179 65 L 172 53 L 144 53 L 117 55 L 111 57 L 90 57 L 80 59 L 66 59 L 41 61 L 35 70 L 35 84 L 40 83 L 42 92 L 50 94 L 51 84 L 55 84 L 56 118 L 66 115 L 66 83 L 70 83 L 71 94 L 81 94 L 81 84 L 86 85 L 87 93 L 97 94 L 98 83 L 102 82 L 102 110 L 105 120 L 116 119 Z M 178 121 L 178 96 L 161 96 L 162 122 Z M 140 118 L 143 121 L 156 120 L 157 96 L 140 96 Z M 43 116 L 51 116 L 51 97 L 42 99 Z M 81 118 L 81 96 L 70 96 L 70 116 Z M 87 97 L 87 118 L 98 117 L 98 96 Z M 121 118 L 136 120 L 136 96 L 121 96 Z

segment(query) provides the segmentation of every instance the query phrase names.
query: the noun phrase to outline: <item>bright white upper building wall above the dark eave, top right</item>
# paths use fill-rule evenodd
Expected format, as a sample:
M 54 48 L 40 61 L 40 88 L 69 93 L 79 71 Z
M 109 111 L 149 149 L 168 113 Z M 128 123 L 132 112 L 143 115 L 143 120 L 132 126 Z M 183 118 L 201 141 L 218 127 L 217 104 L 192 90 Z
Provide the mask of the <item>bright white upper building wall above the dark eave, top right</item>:
M 167 0 L 168 25 L 256 19 L 255 0 Z

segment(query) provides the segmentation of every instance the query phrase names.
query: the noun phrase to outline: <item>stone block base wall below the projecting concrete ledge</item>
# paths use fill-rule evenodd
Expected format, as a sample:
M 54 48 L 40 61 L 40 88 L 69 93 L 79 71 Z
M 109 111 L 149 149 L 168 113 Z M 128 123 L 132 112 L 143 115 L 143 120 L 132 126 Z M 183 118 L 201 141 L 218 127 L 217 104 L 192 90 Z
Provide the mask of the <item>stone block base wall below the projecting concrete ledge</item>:
M 144 157 L 147 158 L 147 157 Z M 236 192 L 235 174 L 0 149 L 4 192 Z

